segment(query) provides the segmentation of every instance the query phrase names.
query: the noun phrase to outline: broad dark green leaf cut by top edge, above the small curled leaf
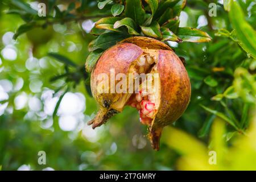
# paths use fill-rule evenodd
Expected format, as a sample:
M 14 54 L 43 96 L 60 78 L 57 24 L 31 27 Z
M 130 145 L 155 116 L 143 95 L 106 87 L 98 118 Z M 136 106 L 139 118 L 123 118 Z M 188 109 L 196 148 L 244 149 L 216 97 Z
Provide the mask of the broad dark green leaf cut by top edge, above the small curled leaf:
M 138 24 L 144 23 L 145 10 L 141 0 L 126 0 L 125 15 Z

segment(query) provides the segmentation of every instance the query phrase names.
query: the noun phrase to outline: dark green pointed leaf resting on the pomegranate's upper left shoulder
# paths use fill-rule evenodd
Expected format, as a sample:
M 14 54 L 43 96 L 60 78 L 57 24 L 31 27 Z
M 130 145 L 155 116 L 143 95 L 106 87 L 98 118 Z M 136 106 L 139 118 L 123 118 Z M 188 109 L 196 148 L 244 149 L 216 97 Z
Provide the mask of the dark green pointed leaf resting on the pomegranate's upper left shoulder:
M 118 32 L 108 32 L 105 34 L 101 34 L 95 40 L 92 51 L 96 49 L 108 49 L 109 47 L 114 46 L 116 43 L 128 37 L 129 35 Z

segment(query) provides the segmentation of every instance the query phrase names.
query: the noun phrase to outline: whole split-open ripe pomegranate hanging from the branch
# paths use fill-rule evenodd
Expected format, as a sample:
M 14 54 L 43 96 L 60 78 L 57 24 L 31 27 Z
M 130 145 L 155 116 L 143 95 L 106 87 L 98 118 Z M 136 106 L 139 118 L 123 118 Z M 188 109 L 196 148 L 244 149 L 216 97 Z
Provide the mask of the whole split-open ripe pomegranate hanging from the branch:
M 105 80 L 102 76 L 99 79 L 102 73 Z M 123 92 L 111 92 L 118 82 L 113 76 L 118 73 L 129 78 L 129 82 L 122 85 Z M 139 74 L 145 78 L 139 80 Z M 106 88 L 102 82 L 113 85 Z M 148 83 L 151 89 L 144 87 Z M 134 92 L 129 92 L 131 87 Z M 94 129 L 129 105 L 138 110 L 140 122 L 148 126 L 148 137 L 155 150 L 159 150 L 163 127 L 181 116 L 191 96 L 189 77 L 179 57 L 166 44 L 146 37 L 128 38 L 106 50 L 92 71 L 91 89 L 100 110 L 88 125 Z

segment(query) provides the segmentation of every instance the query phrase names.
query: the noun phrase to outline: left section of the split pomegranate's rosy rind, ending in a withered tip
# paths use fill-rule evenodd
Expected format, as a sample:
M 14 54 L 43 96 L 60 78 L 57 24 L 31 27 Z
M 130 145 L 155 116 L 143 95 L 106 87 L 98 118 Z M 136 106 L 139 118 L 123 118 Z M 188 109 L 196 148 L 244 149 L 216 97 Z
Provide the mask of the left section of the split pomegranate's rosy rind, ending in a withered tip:
M 115 76 L 118 73 L 124 73 L 127 75 L 129 72 L 129 67 L 134 60 L 136 60 L 141 54 L 142 49 L 135 44 L 122 43 L 117 44 L 108 50 L 106 50 L 100 59 L 97 61 L 96 66 L 92 71 L 90 77 L 90 88 L 92 90 L 93 97 L 96 99 L 100 105 L 100 110 L 98 111 L 96 117 L 88 123 L 88 125 L 93 124 L 93 129 L 97 126 L 102 125 L 106 122 L 113 114 L 122 111 L 122 109 L 112 108 L 112 104 L 118 101 L 120 97 L 123 96 L 122 93 L 98 93 L 97 85 L 99 80 L 98 75 L 105 73 L 109 77 L 110 83 L 110 69 L 115 71 Z M 115 84 L 118 81 L 115 81 Z

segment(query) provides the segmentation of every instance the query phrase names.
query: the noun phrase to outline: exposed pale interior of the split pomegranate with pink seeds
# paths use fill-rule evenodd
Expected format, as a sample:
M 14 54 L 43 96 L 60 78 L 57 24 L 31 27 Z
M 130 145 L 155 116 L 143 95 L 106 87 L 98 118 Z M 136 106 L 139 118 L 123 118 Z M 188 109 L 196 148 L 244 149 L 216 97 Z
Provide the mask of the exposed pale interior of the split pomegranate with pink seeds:
M 133 86 L 135 92 L 133 94 L 123 93 L 111 106 L 120 111 L 125 105 L 136 108 L 139 111 L 139 121 L 143 125 L 151 125 L 159 107 L 160 80 L 156 76 L 157 74 L 154 74 L 158 73 L 156 64 L 158 64 L 158 50 L 143 49 L 142 55 L 134 60 L 129 68 L 129 73 L 133 75 L 133 81 L 127 82 L 127 90 Z M 138 76 L 141 73 L 146 75 L 144 77 L 146 79 L 143 80 Z M 136 81 L 139 82 L 138 88 L 136 88 Z

